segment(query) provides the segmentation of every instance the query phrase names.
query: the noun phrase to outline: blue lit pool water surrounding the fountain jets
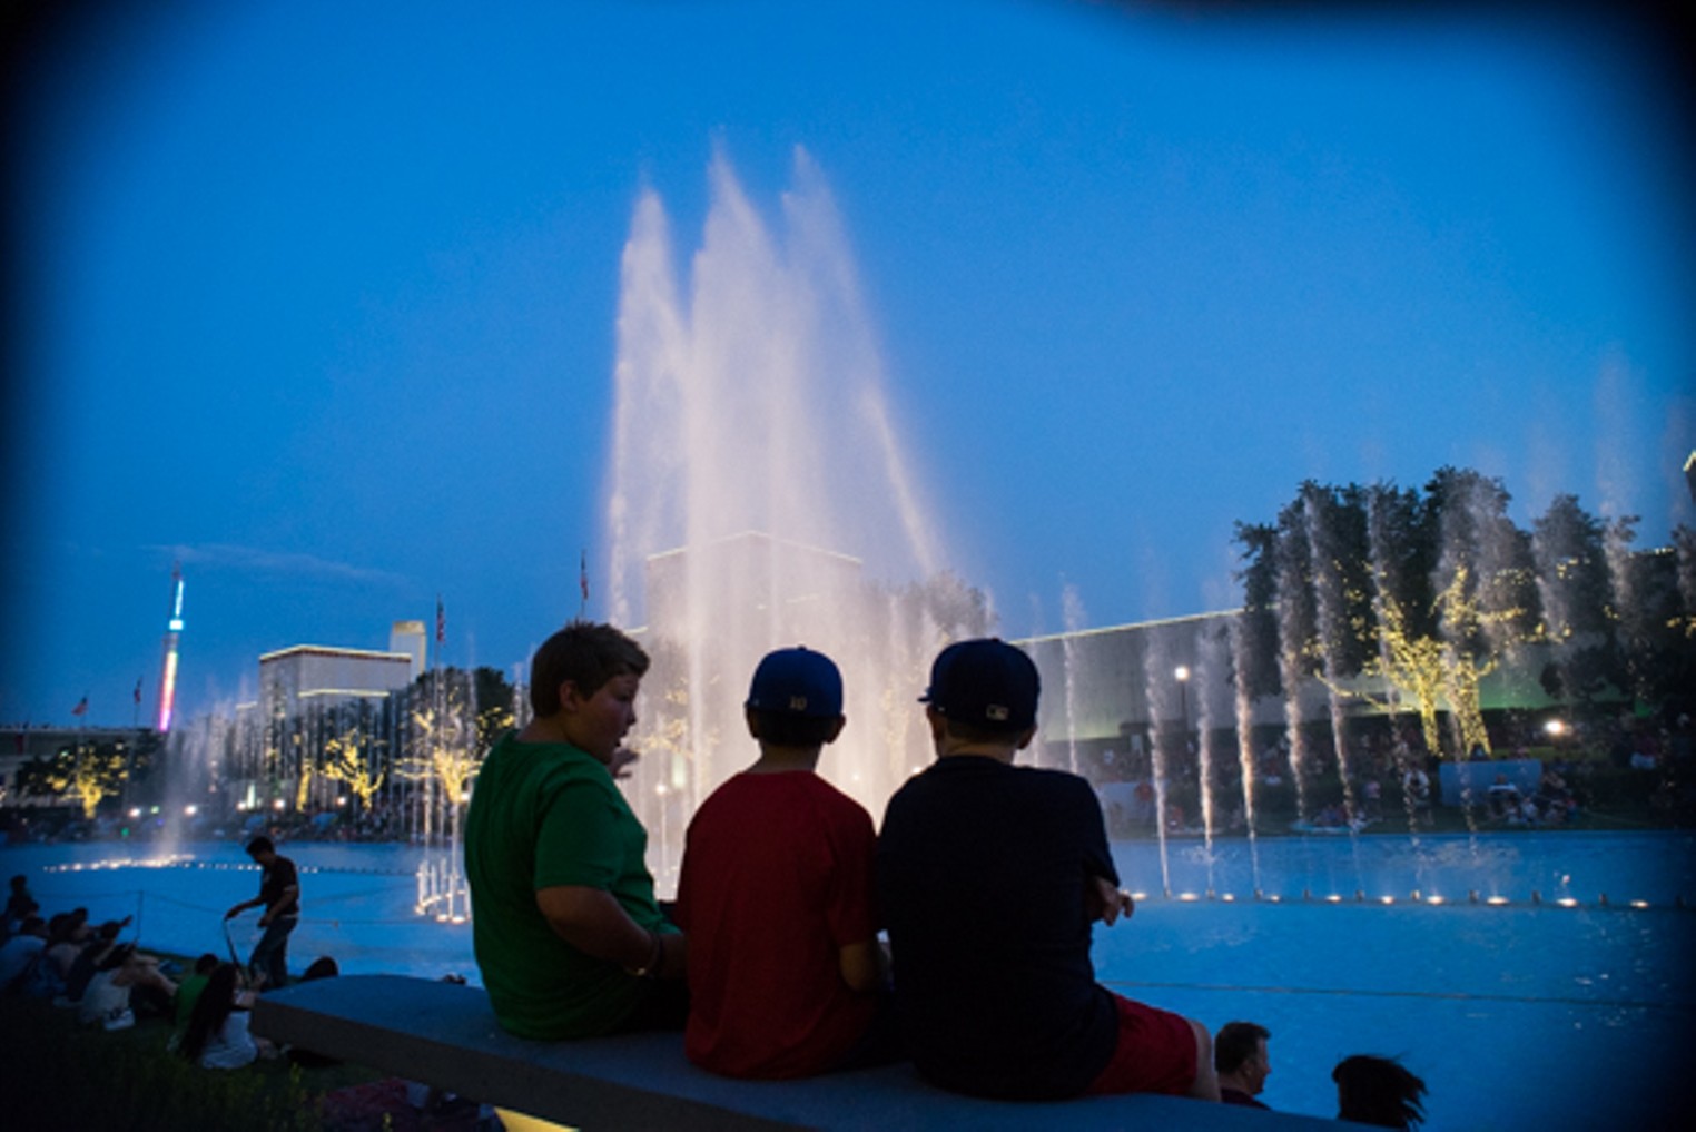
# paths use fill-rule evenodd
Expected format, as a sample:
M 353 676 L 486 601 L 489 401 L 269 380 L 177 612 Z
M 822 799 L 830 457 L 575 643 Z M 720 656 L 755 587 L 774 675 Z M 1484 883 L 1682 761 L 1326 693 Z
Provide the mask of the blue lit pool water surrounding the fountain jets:
M 282 852 L 304 874 L 293 969 L 329 954 L 349 974 L 477 979 L 470 925 L 417 911 L 441 850 Z M 1431 1129 L 1654 1127 L 1672 1093 L 1671 1051 L 1696 1020 L 1689 833 L 1197 840 L 1169 842 L 1165 859 L 1118 842 L 1114 855 L 1143 898 L 1097 928 L 1097 974 L 1213 1028 L 1272 1030 L 1274 1108 L 1333 1115 L 1330 1069 L 1357 1052 L 1401 1056 L 1426 1079 Z M 25 845 L 0 867 L 49 913 L 134 915 L 158 950 L 246 957 L 256 939 L 258 913 L 224 933 L 224 910 L 258 891 L 232 842 Z

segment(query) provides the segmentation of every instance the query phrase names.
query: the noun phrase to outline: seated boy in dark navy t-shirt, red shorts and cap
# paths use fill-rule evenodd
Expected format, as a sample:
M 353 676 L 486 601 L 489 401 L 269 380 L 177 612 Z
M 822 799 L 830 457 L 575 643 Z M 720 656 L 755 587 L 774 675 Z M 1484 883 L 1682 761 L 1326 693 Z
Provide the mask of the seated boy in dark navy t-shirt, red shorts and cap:
M 1036 665 L 950 645 L 924 696 L 936 762 L 889 799 L 879 903 L 907 1052 L 946 1090 L 1006 1100 L 1219 1100 L 1199 1022 L 1096 983 L 1091 925 L 1131 913 L 1084 779 L 1014 765 L 1036 733 Z

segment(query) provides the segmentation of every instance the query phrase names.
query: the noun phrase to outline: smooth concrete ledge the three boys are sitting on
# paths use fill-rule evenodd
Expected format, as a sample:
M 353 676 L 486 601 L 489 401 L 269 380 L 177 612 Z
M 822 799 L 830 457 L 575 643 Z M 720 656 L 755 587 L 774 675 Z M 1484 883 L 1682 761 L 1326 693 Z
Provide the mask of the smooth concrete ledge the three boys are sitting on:
M 938 1127 L 1335 1132 L 1347 1127 L 1172 1096 L 987 1101 L 931 1088 L 911 1066 L 807 1081 L 731 1081 L 689 1064 L 677 1034 L 531 1042 L 499 1027 L 482 988 L 395 974 L 317 979 L 263 995 L 253 1012 L 253 1032 L 590 1132 Z

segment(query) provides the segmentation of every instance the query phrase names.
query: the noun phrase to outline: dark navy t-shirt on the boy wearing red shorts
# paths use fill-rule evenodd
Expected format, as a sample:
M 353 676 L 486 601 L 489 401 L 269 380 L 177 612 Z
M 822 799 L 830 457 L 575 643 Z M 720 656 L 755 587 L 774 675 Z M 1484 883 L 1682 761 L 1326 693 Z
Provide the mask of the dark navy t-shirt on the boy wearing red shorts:
M 1089 961 L 1092 876 L 1119 883 L 1075 774 L 951 755 L 889 799 L 879 899 L 919 1073 L 977 1096 L 1089 1088 L 1118 1044 Z

